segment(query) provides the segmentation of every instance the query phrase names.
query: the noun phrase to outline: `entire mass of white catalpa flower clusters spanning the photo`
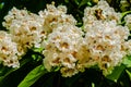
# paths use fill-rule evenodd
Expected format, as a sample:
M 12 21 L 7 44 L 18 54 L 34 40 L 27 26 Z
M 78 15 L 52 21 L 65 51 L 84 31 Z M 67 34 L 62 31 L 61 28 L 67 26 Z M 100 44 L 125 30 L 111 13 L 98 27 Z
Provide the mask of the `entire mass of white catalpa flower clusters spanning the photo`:
M 48 72 L 59 67 L 62 76 L 70 77 L 97 65 L 108 75 L 131 53 L 130 16 L 120 25 L 121 13 L 100 0 L 85 8 L 83 26 L 78 27 L 64 5 L 47 4 L 38 14 L 13 8 L 3 22 L 9 32 L 0 32 L 0 63 L 19 67 L 28 49 L 44 48 Z

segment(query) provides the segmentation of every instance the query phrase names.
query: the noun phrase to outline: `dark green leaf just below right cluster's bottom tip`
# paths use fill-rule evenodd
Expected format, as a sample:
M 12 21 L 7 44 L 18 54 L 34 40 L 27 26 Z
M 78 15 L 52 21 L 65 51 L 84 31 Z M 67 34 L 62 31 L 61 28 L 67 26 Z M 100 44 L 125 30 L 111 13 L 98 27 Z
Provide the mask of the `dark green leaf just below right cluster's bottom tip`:
M 122 72 L 124 71 L 126 66 L 121 64 L 120 66 L 116 66 L 110 75 L 106 77 L 110 80 L 117 82 Z

